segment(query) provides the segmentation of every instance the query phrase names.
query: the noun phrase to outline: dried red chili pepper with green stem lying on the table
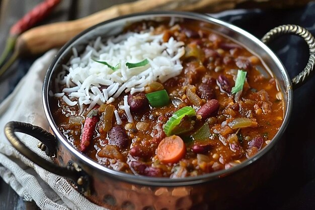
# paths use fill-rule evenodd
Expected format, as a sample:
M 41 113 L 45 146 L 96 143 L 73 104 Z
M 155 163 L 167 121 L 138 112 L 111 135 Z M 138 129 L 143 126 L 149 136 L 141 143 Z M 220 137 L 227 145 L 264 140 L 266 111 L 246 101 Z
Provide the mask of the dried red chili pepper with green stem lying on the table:
M 61 0 L 46 0 L 40 3 L 11 27 L 5 50 L 0 56 L 0 76 L 19 56 L 19 51 L 14 50 L 18 36 L 43 20 L 60 2 Z

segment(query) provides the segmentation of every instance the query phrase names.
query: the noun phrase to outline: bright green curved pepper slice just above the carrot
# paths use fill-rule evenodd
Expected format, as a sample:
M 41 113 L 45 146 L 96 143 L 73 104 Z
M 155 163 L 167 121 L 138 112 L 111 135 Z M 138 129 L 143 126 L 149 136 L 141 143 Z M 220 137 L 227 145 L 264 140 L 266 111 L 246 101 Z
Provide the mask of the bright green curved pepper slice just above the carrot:
M 163 130 L 167 136 L 173 135 L 173 131 L 177 125 L 181 123 L 181 120 L 185 117 L 192 117 L 196 115 L 196 111 L 191 106 L 185 106 L 176 112 L 165 123 Z

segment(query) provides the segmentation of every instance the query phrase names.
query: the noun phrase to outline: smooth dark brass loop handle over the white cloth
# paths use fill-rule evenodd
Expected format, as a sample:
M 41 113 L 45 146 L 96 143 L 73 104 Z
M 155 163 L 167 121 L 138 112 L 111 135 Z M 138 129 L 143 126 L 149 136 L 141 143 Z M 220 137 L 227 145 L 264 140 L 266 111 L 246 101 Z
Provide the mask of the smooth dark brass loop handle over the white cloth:
M 51 158 L 54 158 L 56 153 L 56 138 L 54 135 L 41 127 L 25 122 L 11 121 L 5 126 L 5 135 L 7 136 L 9 142 L 23 156 L 51 173 L 71 179 L 80 191 L 84 191 L 86 193 L 89 191 L 89 177 L 81 168 L 76 167 L 76 164 L 68 164 L 66 167 L 61 167 L 45 160 L 26 147 L 25 144 L 16 136 L 15 132 L 22 132 L 39 139 L 42 143 L 39 144 L 39 148 L 45 150 L 46 155 Z

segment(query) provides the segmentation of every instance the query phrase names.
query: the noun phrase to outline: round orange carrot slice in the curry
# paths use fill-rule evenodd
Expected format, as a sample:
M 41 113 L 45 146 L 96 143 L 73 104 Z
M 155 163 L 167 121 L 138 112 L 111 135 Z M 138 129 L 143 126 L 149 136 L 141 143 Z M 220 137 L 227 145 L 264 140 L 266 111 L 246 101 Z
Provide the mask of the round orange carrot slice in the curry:
M 185 143 L 177 135 L 165 137 L 157 147 L 156 153 L 162 163 L 177 163 L 186 155 Z

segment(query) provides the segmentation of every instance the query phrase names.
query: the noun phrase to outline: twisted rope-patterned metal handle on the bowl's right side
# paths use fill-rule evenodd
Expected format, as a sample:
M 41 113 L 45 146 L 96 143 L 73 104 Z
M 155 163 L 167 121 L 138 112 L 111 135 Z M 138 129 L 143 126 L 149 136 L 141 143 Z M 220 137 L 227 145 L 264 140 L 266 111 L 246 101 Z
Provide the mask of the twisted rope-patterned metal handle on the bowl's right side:
M 265 34 L 265 36 L 262 38 L 262 42 L 267 44 L 268 42 L 272 41 L 282 34 L 293 34 L 300 36 L 306 41 L 309 47 L 309 58 L 306 67 L 300 74 L 292 79 L 293 88 L 296 89 L 304 84 L 304 82 L 306 81 L 305 79 L 307 79 L 307 77 L 313 70 L 315 63 L 315 39 L 305 28 L 296 25 L 282 25 L 271 29 L 267 34 Z

